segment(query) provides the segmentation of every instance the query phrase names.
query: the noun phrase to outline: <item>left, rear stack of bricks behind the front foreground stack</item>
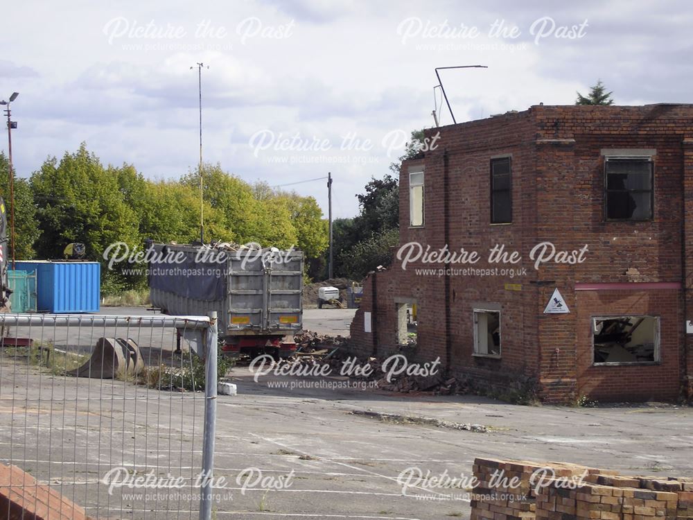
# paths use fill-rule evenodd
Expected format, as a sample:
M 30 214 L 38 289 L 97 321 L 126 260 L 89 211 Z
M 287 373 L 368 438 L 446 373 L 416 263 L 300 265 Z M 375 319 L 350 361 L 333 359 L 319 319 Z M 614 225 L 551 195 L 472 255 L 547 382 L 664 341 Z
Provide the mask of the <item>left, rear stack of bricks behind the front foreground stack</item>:
M 561 462 L 551 464 L 523 460 L 476 458 L 474 476 L 478 482 L 471 501 L 471 520 L 527 520 L 536 518 L 536 494 L 532 475 L 550 467 L 554 476 L 570 478 L 585 471 L 584 466 Z

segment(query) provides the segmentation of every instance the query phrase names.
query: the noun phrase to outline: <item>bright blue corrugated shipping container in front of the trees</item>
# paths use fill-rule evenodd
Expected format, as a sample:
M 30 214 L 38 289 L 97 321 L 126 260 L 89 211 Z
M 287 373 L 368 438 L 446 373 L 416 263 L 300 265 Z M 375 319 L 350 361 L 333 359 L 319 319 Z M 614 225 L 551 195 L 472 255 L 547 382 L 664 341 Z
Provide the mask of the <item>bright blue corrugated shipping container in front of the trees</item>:
M 36 271 L 39 312 L 93 313 L 100 309 L 98 262 L 17 261 L 17 270 Z

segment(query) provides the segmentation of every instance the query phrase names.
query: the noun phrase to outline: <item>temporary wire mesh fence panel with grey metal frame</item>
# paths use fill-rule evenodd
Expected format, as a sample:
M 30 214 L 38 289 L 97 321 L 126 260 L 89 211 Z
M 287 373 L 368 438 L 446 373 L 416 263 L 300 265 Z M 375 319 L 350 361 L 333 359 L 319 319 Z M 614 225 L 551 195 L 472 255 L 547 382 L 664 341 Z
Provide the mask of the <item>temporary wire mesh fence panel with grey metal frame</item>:
M 56 520 L 211 518 L 215 315 L 8 313 L 0 327 L 0 504 L 14 497 L 0 518 L 51 493 Z

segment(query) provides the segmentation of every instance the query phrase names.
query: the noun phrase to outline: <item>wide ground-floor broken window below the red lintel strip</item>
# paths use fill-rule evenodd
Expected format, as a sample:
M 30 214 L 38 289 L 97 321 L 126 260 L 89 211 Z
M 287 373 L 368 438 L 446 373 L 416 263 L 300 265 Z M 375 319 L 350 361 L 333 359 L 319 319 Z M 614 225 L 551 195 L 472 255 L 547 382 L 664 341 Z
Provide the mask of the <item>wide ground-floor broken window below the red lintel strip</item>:
M 595 365 L 659 361 L 659 318 L 593 318 Z

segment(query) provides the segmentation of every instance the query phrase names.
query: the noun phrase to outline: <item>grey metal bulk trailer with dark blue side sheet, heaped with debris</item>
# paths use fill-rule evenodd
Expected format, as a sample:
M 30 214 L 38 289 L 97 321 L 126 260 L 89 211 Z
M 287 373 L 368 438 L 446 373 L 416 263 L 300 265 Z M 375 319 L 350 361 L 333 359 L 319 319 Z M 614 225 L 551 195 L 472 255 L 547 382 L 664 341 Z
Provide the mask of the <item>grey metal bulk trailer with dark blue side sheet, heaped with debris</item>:
M 152 305 L 172 315 L 216 311 L 225 352 L 288 357 L 303 328 L 303 252 L 277 248 L 152 244 Z

